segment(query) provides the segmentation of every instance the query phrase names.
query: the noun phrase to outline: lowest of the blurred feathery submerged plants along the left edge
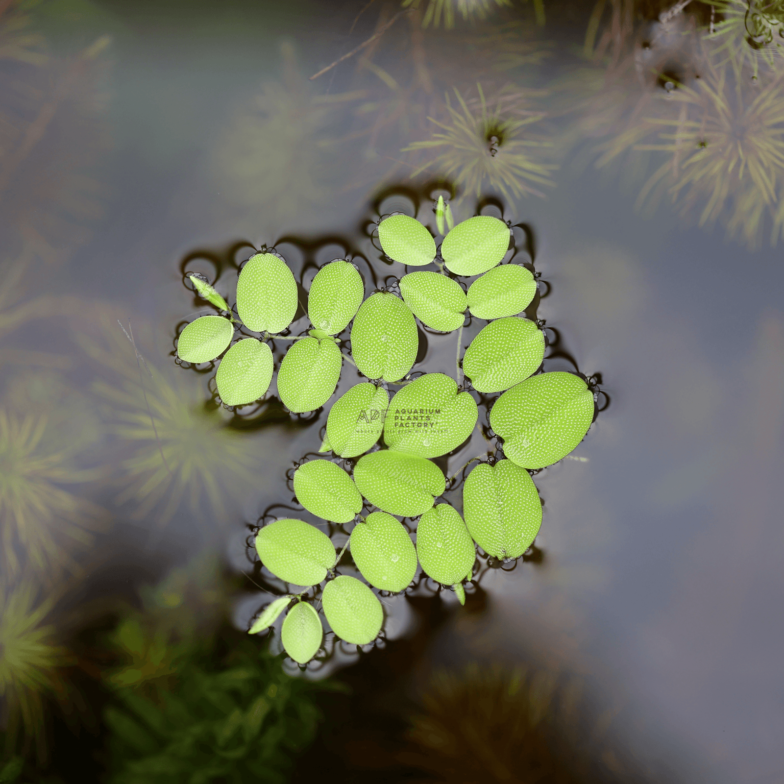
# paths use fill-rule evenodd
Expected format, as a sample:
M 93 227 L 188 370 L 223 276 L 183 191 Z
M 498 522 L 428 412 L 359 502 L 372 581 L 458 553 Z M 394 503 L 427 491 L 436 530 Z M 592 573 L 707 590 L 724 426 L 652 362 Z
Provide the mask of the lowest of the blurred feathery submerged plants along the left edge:
M 16 586 L 0 583 L 0 701 L 5 705 L 6 753 L 16 746 L 20 732 L 27 743 L 45 755 L 44 702 L 62 695 L 59 670 L 70 655 L 56 640 L 47 617 L 56 596 L 42 598 L 42 588 L 30 579 Z

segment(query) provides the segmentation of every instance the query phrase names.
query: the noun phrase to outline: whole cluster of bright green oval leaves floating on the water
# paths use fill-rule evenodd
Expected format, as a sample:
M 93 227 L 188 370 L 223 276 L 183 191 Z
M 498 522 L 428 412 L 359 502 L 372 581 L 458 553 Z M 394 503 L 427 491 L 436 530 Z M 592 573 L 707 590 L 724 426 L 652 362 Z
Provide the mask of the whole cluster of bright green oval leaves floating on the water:
M 336 636 L 363 645 L 376 639 L 383 624 L 382 605 L 369 586 L 406 590 L 419 562 L 425 575 L 452 587 L 463 603 L 477 545 L 499 561 L 521 557 L 542 522 L 529 472 L 572 452 L 593 421 L 594 392 L 581 376 L 537 373 L 545 336 L 524 314 L 537 281 L 521 264 L 500 264 L 510 248 L 510 226 L 487 215 L 454 225 L 442 198 L 436 219 L 443 237 L 439 249 L 430 230 L 408 215 L 391 214 L 378 224 L 387 258 L 416 268 L 397 282 L 400 296 L 386 288 L 365 297 L 365 281 L 350 261 L 321 267 L 308 292 L 310 329 L 299 336 L 281 334 L 297 313 L 298 289 L 278 253 L 257 252 L 241 267 L 236 310 L 209 282 L 190 276 L 222 315 L 191 321 L 177 339 L 176 355 L 191 365 L 221 357 L 215 383 L 224 405 L 248 405 L 267 394 L 276 371 L 269 344 L 280 339 L 292 345 L 277 368 L 278 395 L 294 414 L 325 405 L 344 361 L 367 379 L 341 395 L 328 413 L 319 451 L 332 452 L 333 459 L 309 460 L 293 474 L 305 510 L 338 526 L 354 522 L 346 547 L 336 556 L 328 535 L 296 518 L 275 520 L 256 532 L 263 566 L 284 583 L 305 588 L 269 604 L 250 632 L 269 628 L 294 601 L 281 641 L 300 664 L 313 659 L 323 642 L 310 595 L 314 586 L 323 584 L 318 598 Z M 431 264 L 439 270 L 419 269 Z M 461 285 L 460 278 L 472 281 Z M 488 324 L 461 361 L 466 314 Z M 412 375 L 417 319 L 431 330 L 458 332 L 456 379 L 443 372 Z M 344 354 L 338 336 L 349 328 L 350 354 Z M 463 373 L 470 383 L 463 383 Z M 391 400 L 390 386 L 399 387 Z M 488 433 L 503 440 L 504 458 L 485 459 L 470 471 L 461 516 L 450 504 L 438 503 L 447 482 L 434 459 L 455 451 L 474 432 L 474 395 L 492 399 Z M 383 448 L 376 448 L 379 438 Z M 363 517 L 365 508 L 372 511 Z M 416 524 L 416 547 L 397 517 Z M 366 583 L 336 573 L 349 546 Z

